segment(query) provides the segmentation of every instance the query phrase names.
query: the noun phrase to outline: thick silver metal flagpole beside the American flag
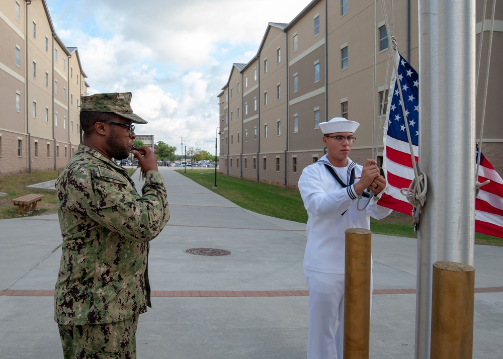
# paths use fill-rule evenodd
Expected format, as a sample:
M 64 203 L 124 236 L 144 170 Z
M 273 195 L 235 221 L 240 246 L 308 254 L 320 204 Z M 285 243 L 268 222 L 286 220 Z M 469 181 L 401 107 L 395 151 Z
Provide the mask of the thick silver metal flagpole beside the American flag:
M 420 0 L 419 163 L 428 193 L 417 237 L 415 358 L 431 344 L 433 263 L 473 265 L 475 0 Z

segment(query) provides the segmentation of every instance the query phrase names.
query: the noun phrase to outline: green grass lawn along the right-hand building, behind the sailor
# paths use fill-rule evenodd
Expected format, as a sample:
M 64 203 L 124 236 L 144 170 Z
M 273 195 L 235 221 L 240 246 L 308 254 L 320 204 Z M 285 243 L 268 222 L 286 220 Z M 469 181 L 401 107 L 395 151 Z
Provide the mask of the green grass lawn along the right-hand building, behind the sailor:
M 177 171 L 184 173 L 183 169 Z M 244 209 L 271 217 L 307 223 L 307 213 L 298 190 L 243 180 L 218 172 L 218 189 L 213 189 L 215 170 L 191 170 L 185 175 Z M 371 218 L 370 229 L 376 234 L 416 237 L 411 217 L 397 212 L 393 212 L 380 221 Z M 503 239 L 475 233 L 475 243 L 503 246 Z

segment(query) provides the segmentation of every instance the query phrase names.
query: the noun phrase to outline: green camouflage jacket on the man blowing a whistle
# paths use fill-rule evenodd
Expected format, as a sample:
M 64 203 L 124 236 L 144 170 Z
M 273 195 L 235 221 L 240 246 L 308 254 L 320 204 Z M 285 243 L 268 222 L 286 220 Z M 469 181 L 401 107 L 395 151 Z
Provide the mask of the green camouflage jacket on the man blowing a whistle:
M 148 171 L 140 196 L 124 168 L 79 145 L 56 190 L 63 237 L 56 322 L 103 324 L 146 312 L 149 241 L 170 218 L 162 175 Z

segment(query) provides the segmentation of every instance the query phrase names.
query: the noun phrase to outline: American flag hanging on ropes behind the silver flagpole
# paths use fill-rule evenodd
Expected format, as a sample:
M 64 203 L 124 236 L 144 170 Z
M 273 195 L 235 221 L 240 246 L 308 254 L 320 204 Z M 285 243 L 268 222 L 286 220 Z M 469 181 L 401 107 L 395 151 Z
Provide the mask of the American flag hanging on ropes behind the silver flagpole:
M 417 72 L 396 52 L 394 61 L 398 67 L 398 78 L 405 113 L 409 126 L 415 161 L 418 161 L 419 139 L 419 79 Z M 384 125 L 383 170 L 388 188 L 379 200 L 379 205 L 407 215 L 412 214 L 412 206 L 400 193 L 408 188 L 414 179 L 405 121 L 399 95 L 398 81 L 393 71 Z M 478 149 L 477 149 L 478 151 Z M 475 199 L 475 232 L 503 238 L 503 180 L 494 170 L 489 160 L 482 154 L 478 182 L 490 180 L 480 188 Z M 428 196 L 428 195 L 427 195 Z M 426 204 L 428 206 L 428 204 Z

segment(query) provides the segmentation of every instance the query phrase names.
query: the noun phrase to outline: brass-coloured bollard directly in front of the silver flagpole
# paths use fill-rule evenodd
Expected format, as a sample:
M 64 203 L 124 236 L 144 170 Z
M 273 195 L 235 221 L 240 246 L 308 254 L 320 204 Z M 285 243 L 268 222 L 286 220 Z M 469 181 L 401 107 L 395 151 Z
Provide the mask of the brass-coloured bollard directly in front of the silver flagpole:
M 433 264 L 430 359 L 471 359 L 475 269 L 438 261 Z

